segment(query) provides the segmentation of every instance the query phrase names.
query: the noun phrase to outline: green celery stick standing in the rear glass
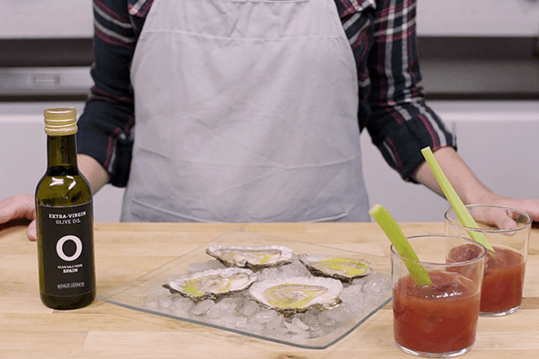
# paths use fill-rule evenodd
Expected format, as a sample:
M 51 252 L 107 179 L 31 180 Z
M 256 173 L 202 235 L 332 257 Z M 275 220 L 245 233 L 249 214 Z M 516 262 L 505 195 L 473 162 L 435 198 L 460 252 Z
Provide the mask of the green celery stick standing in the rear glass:
M 444 171 L 442 171 L 442 168 L 434 158 L 434 153 L 432 153 L 430 147 L 423 148 L 421 150 L 421 153 L 423 153 L 423 157 L 425 157 L 425 160 L 427 161 L 427 163 L 429 163 L 430 170 L 432 171 L 432 173 L 434 173 L 434 177 L 436 177 L 440 188 L 442 188 L 442 190 L 444 191 L 447 200 L 455 210 L 455 214 L 458 216 L 460 222 L 463 223 L 463 225 L 466 227 L 478 228 L 477 223 L 473 219 L 473 216 L 470 215 L 470 213 L 466 209 L 466 206 L 464 206 L 462 199 L 460 199 L 460 197 L 458 197 L 458 195 L 456 194 L 455 188 L 453 188 L 449 180 L 447 180 L 446 174 L 444 173 Z M 473 241 L 481 243 L 483 246 L 485 246 L 487 250 L 494 252 L 494 249 L 492 248 L 489 241 L 482 232 L 468 231 L 468 233 L 472 237 Z

